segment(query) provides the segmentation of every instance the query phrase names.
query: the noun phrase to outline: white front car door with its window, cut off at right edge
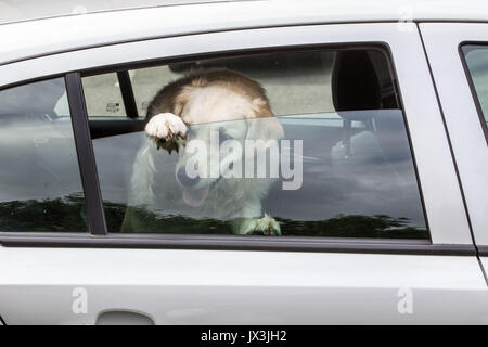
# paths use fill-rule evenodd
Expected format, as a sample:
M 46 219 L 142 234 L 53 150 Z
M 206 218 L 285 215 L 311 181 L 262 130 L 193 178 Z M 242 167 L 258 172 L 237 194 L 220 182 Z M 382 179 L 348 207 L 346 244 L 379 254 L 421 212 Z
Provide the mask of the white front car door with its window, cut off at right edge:
M 447 30 L 452 34 L 440 40 Z M 473 237 L 486 271 L 488 130 L 484 76 L 488 26 L 423 23 L 421 33 L 458 164 Z

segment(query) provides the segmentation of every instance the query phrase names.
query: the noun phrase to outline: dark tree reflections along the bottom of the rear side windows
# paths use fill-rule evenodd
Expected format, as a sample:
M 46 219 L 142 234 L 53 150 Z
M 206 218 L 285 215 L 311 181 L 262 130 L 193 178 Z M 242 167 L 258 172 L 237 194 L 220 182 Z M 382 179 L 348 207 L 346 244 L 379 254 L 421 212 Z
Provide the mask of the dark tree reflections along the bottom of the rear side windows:
M 120 230 L 126 205 L 104 203 L 108 230 Z M 132 232 L 171 234 L 231 234 L 231 223 L 211 218 L 160 215 L 136 208 L 141 221 Z M 428 239 L 425 228 L 410 224 L 408 218 L 386 215 L 338 215 L 325 220 L 275 218 L 283 235 L 322 237 Z M 1 231 L 82 232 L 88 230 L 81 193 L 52 200 L 0 203 Z

